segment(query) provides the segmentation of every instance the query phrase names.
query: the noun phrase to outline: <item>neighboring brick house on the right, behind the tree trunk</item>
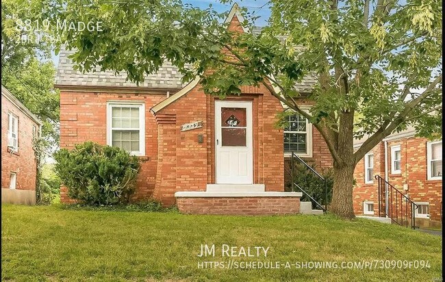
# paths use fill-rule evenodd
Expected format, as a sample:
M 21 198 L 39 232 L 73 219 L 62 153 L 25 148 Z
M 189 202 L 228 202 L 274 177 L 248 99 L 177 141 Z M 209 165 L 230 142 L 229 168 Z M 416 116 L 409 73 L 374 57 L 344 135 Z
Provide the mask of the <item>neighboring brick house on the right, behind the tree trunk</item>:
M 360 160 L 354 172 L 355 214 L 377 216 L 374 176 L 380 175 L 419 205 L 416 226 L 442 226 L 442 140 L 415 135 L 413 128 L 393 133 Z M 360 145 L 361 141 L 355 142 L 356 149 Z

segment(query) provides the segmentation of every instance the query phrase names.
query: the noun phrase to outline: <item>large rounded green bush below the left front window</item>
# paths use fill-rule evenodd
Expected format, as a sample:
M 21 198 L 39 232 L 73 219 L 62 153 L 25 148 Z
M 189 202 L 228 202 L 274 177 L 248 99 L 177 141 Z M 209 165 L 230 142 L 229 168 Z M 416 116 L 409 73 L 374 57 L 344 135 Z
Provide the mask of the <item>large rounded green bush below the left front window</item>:
M 85 142 L 61 149 L 54 159 L 68 196 L 86 205 L 128 203 L 135 191 L 139 159 L 117 147 Z

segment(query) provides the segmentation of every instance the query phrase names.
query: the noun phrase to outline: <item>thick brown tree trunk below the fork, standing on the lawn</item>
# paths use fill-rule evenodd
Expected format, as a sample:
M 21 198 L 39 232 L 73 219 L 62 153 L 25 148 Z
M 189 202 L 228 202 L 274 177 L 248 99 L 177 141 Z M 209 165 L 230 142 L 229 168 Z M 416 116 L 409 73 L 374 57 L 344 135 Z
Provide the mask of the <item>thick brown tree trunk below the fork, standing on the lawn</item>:
M 353 181 L 354 164 L 340 166 L 334 162 L 332 203 L 329 211 L 343 218 L 354 218 Z

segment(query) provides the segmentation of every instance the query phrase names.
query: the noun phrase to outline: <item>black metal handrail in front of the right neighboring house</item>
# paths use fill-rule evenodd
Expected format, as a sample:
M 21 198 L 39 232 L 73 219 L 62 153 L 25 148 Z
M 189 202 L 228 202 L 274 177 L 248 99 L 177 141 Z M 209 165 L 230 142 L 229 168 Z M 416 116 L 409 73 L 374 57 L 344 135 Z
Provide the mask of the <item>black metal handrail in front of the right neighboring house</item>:
M 378 194 L 379 194 L 379 216 L 387 216 L 391 218 L 392 221 L 396 222 L 398 225 L 404 226 L 404 219 L 406 221 L 406 227 L 408 227 L 408 222 L 411 220 L 411 229 L 416 228 L 416 209 L 418 205 L 411 201 L 405 194 L 400 190 L 391 185 L 388 181 L 383 179 L 380 175 L 374 177 L 379 181 Z M 386 189 L 388 188 L 388 189 Z M 394 213 L 394 199 L 395 199 L 395 213 Z M 388 204 L 386 204 L 386 200 Z M 400 204 L 399 201 L 400 200 Z M 403 201 L 405 201 L 405 214 L 403 213 Z M 408 206 L 409 203 L 409 206 Z M 411 211 L 409 211 L 409 207 Z M 400 213 L 399 213 L 400 211 Z M 400 214 L 400 217 L 399 217 Z M 400 219 L 400 222 L 399 222 Z

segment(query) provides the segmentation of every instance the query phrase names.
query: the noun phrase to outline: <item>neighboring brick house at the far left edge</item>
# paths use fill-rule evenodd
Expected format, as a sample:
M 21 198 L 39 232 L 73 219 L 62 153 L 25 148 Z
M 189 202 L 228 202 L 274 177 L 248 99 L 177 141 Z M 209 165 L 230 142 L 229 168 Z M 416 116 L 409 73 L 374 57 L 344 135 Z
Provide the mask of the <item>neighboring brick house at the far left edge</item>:
M 33 136 L 42 123 L 1 86 L 2 203 L 36 202 L 36 158 Z

